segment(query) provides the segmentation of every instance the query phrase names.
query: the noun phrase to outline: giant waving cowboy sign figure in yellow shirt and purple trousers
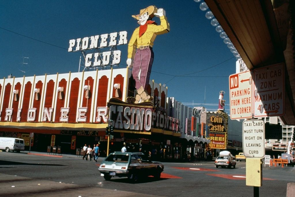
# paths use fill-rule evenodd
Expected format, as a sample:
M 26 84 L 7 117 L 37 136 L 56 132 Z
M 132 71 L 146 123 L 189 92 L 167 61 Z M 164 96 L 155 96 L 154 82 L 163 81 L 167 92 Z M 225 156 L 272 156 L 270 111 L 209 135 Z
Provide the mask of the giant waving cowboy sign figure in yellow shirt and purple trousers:
M 151 21 L 154 16 L 160 17 L 160 25 L 157 25 L 155 21 Z M 165 10 L 162 8 L 157 9 L 155 6 L 141 9 L 138 15 L 132 15 L 132 17 L 138 20 L 140 26 L 134 30 L 130 38 L 126 63 L 128 67 L 132 67 L 133 59 L 132 76 L 137 90 L 135 103 L 139 103 L 150 99 L 146 90 L 154 60 L 154 40 L 157 35 L 170 31 L 170 26 L 165 16 Z

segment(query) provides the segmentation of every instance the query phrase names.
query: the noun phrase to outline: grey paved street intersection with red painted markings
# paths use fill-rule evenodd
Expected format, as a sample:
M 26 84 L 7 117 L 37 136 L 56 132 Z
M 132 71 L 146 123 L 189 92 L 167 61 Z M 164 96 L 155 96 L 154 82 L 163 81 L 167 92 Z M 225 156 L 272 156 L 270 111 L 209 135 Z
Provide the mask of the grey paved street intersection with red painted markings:
M 0 152 L 0 196 L 253 196 L 246 186 L 245 162 L 235 169 L 215 168 L 213 161 L 162 162 L 159 181 L 153 177 L 132 183 L 127 178 L 105 181 L 99 162 L 74 155 Z M 295 182 L 295 168 L 264 167 L 260 196 L 286 196 L 287 183 Z

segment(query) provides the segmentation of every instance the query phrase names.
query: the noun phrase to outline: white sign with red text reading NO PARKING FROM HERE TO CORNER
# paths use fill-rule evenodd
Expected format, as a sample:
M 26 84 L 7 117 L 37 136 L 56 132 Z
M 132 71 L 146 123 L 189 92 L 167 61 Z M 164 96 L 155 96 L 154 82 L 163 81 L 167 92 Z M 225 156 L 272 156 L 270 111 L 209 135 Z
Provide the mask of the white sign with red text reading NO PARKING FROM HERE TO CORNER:
M 252 117 L 252 76 L 250 71 L 230 75 L 230 118 Z

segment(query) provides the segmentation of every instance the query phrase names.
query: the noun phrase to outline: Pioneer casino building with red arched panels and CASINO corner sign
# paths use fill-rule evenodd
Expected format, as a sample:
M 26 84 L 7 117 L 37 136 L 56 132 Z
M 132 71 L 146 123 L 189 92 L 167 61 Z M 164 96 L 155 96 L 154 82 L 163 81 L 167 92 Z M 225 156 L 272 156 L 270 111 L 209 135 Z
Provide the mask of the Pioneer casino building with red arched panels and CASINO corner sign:
M 41 152 L 59 146 L 76 154 L 85 143 L 99 143 L 104 156 L 112 119 L 110 152 L 127 144 L 128 151 L 162 148 L 163 159 L 181 159 L 188 141 L 180 120 L 166 113 L 168 88 L 151 80 L 153 100 L 135 104 L 133 83 L 128 68 L 0 79 L 0 134 L 24 138 L 28 150 L 33 133 L 31 151 Z

